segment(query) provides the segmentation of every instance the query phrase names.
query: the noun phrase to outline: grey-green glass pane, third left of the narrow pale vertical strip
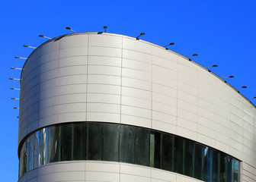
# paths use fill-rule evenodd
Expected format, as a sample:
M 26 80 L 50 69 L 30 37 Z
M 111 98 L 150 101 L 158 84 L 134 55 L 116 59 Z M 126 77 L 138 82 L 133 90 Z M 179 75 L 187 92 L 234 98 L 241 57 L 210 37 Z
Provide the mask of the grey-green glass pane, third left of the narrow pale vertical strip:
M 119 124 L 103 125 L 103 160 L 119 161 Z

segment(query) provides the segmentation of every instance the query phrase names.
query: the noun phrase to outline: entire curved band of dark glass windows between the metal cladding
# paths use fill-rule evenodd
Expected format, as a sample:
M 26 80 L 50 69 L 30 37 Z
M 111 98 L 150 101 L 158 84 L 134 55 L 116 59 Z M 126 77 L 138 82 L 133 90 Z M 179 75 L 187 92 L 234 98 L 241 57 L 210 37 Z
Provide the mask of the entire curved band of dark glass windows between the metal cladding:
M 160 168 L 204 181 L 240 181 L 240 162 L 224 152 L 123 124 L 75 122 L 45 127 L 24 141 L 19 156 L 19 177 L 51 162 L 98 160 Z

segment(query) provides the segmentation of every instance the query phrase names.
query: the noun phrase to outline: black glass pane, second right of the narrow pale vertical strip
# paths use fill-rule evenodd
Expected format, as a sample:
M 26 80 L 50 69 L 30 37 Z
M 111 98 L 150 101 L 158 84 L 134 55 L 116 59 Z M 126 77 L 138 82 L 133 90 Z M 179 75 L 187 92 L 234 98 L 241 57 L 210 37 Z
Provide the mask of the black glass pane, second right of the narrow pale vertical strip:
M 173 171 L 174 167 L 174 137 L 162 133 L 162 169 Z M 182 153 L 181 153 L 182 154 Z

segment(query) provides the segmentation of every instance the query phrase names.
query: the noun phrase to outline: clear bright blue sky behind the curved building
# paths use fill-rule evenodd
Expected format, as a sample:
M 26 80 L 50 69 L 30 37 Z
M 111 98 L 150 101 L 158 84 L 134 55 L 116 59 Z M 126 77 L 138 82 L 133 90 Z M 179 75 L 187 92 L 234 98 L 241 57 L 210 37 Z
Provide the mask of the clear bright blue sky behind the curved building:
M 18 180 L 18 81 L 24 61 L 32 49 L 46 39 L 39 34 L 55 37 L 77 32 L 104 31 L 138 36 L 158 45 L 174 42 L 171 49 L 181 55 L 198 54 L 193 60 L 203 66 L 218 64 L 211 70 L 227 80 L 246 97 L 256 96 L 256 1 L 255 0 L 148 0 L 148 1 L 2 1 L 0 71 L 1 149 L 0 181 Z M 256 104 L 256 99 L 251 99 Z

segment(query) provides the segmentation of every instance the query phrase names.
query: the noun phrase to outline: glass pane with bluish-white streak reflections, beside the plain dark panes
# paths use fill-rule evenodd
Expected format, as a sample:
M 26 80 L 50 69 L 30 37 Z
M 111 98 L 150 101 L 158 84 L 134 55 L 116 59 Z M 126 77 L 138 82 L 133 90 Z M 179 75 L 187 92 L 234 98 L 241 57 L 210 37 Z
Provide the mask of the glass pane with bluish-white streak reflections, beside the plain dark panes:
M 47 163 L 59 161 L 59 126 L 48 127 Z

